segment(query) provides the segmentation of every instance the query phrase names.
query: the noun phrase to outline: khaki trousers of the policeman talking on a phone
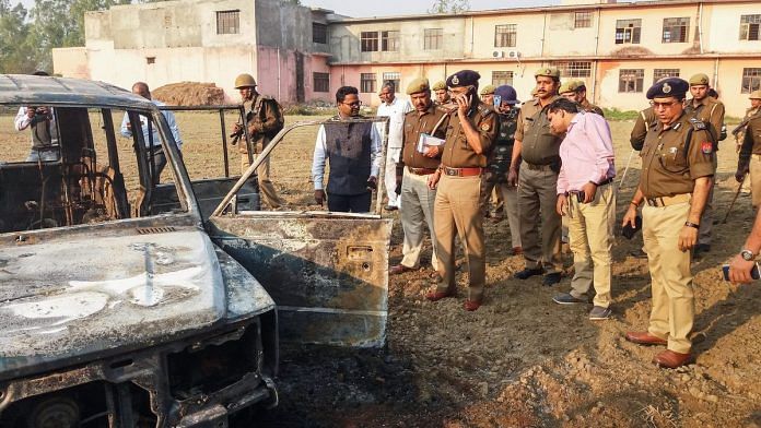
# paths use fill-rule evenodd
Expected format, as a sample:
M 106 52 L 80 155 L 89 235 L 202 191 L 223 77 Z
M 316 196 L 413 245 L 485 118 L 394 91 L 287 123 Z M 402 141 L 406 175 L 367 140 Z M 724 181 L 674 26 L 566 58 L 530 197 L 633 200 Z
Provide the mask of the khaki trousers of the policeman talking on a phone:
M 436 287 L 441 293 L 455 293 L 455 236 L 465 246 L 468 259 L 470 287 L 468 298 L 483 299 L 487 276 L 484 258 L 483 216 L 479 205 L 481 177 L 449 177 L 443 175 L 438 181 L 434 203 L 433 224 L 436 234 L 436 257 L 438 274 L 442 277 Z

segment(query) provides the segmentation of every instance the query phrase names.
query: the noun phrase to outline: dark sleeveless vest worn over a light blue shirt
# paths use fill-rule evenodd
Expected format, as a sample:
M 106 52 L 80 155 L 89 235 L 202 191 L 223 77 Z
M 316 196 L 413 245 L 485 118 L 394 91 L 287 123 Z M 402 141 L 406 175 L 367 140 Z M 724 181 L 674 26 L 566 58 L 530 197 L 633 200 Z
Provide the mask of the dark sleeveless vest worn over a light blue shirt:
M 367 192 L 372 127 L 372 122 L 325 123 L 325 147 L 330 163 L 328 193 Z

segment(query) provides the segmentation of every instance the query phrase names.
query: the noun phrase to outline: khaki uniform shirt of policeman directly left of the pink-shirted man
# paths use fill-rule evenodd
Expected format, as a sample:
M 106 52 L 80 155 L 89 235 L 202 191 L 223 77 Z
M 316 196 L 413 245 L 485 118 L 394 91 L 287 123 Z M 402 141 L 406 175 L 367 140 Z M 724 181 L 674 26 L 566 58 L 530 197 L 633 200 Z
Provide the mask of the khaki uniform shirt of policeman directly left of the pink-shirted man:
M 548 105 L 558 99 L 553 96 Z M 564 135 L 554 135 L 550 132 L 550 120 L 547 118 L 547 109 L 541 107 L 539 98 L 524 103 L 518 115 L 518 129 L 515 131 L 515 140 L 523 143 L 520 157 L 534 165 L 560 165 L 560 142 Z

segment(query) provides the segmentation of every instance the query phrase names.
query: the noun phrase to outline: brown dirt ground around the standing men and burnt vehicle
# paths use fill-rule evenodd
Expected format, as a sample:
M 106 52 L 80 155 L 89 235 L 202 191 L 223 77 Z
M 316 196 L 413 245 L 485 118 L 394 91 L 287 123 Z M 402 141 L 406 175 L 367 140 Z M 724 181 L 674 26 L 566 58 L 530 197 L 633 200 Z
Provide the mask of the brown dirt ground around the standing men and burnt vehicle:
M 220 171 L 214 165 L 221 152 L 207 134 L 215 120 L 178 116 L 185 160 L 196 177 Z M 9 124 L 10 118 L 0 117 L 0 141 L 14 142 L 3 145 L 23 156 L 28 135 L 9 132 Z M 611 127 L 621 174 L 632 123 Z M 314 129 L 302 130 L 276 152 L 272 180 L 290 207 L 311 203 L 313 144 Z M 722 144 L 715 221 L 724 217 L 737 188 L 734 142 Z M 235 170 L 234 151 L 231 156 Z M 619 191 L 619 218 L 639 178 L 639 157 L 631 167 Z M 398 214 L 393 215 L 391 262 L 397 263 L 402 233 Z M 623 340 L 625 331 L 645 329 L 649 313 L 646 261 L 629 255 L 642 245 L 641 235 L 633 241 L 619 238 L 614 246 L 616 318 L 590 322 L 590 306 L 551 301 L 567 290 L 570 278 L 551 288 L 540 278 L 513 280 L 523 259 L 508 255 L 506 222 L 487 222 L 488 289 L 481 309 L 461 308 L 465 273 L 458 274 L 460 297 L 435 304 L 423 298 L 433 285 L 430 268 L 393 276 L 387 347 L 284 348 L 280 406 L 251 417 L 257 426 L 271 427 L 761 427 L 761 287 L 725 283 L 719 270 L 738 251 L 752 218 L 750 198 L 741 194 L 729 222 L 714 228 L 712 252 L 693 264 L 698 362 L 688 368 L 660 370 L 651 364 L 659 348 Z M 430 258 L 430 246 L 424 257 Z

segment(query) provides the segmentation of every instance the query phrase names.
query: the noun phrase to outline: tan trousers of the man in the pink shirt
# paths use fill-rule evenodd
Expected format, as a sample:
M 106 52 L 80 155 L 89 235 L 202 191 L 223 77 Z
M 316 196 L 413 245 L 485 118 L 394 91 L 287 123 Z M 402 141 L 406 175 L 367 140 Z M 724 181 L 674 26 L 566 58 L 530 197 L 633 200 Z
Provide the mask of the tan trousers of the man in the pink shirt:
M 612 282 L 612 248 L 616 227 L 616 188 L 612 183 L 597 188 L 595 199 L 579 203 L 569 197 L 571 209 L 563 218 L 569 225 L 570 247 L 573 252 L 574 275 L 571 296 L 582 298 L 595 287 L 595 306 L 610 306 Z

